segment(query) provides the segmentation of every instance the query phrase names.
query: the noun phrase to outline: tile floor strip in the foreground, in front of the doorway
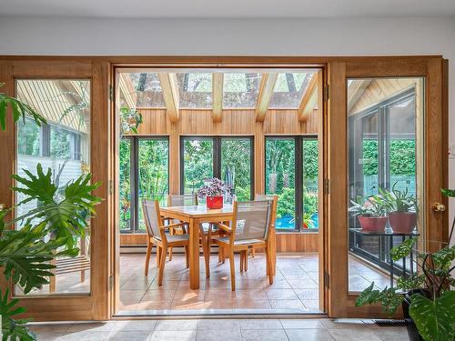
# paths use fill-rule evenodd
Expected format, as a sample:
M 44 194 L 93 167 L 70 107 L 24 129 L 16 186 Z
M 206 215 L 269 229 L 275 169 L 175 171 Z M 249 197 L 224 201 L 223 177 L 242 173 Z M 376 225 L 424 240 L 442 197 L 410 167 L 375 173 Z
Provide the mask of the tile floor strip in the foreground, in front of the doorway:
M 359 319 L 183 319 L 33 324 L 38 340 L 405 341 L 404 326 Z

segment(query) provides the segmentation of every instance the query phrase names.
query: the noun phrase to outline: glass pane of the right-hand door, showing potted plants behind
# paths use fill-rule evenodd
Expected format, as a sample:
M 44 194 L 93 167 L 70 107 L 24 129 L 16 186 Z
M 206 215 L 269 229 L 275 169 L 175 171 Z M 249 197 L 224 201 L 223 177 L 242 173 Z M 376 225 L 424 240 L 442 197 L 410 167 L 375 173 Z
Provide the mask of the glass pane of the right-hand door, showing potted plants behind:
M 375 196 L 393 191 L 407 196 L 408 202 L 417 203 L 404 212 L 397 212 L 393 206 L 373 209 L 372 215 L 365 214 L 364 209 L 359 212 L 351 208 L 349 291 L 361 291 L 371 282 L 377 288 L 391 286 L 393 278 L 390 283 L 390 276 L 384 274 L 392 271 L 409 275 L 412 271 L 409 257 L 391 267 L 389 250 L 410 237 L 407 233 L 423 233 L 419 216 L 422 165 L 417 162 L 417 146 L 423 142 L 418 125 L 423 116 L 422 85 L 420 78 L 349 80 L 348 96 L 357 98 L 355 103 L 349 103 L 348 109 L 349 206 L 357 201 L 361 206 L 371 207 Z M 408 226 L 403 226 L 405 220 L 410 221 Z M 400 234 L 403 229 L 404 236 Z

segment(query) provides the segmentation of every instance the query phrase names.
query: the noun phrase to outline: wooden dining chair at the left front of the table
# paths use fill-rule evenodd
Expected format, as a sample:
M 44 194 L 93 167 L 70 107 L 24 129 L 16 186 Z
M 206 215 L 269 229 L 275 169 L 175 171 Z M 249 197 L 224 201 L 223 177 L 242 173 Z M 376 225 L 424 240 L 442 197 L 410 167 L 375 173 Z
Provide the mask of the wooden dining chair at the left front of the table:
M 142 209 L 144 212 L 144 220 L 147 227 L 147 256 L 146 256 L 146 271 L 145 275 L 148 275 L 148 264 L 150 263 L 150 255 L 152 248 L 155 245 L 157 247 L 157 265 L 158 266 L 158 286 L 163 284 L 164 269 L 166 263 L 166 255 L 168 247 L 185 247 L 185 256 L 187 261 L 187 267 L 189 266 L 188 259 L 188 246 L 189 236 L 185 235 L 170 235 L 166 233 L 169 228 L 181 227 L 185 223 L 169 224 L 165 225 L 163 218 L 159 210 L 159 202 L 157 200 L 142 200 Z

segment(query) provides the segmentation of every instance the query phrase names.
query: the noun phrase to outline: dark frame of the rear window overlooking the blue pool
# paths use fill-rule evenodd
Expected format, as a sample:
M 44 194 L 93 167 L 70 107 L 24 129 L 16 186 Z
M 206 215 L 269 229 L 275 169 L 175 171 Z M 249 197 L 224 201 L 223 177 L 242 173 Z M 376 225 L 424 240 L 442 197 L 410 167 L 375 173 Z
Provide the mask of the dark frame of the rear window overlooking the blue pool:
M 294 187 L 295 187 L 295 224 L 294 228 L 278 228 L 277 232 L 301 232 L 301 233 L 311 233 L 319 232 L 319 228 L 308 228 L 304 229 L 303 226 L 303 200 L 304 200 L 304 164 L 303 164 L 303 143 L 305 140 L 316 140 L 319 142 L 318 135 L 308 134 L 308 135 L 265 135 L 264 138 L 264 193 L 267 193 L 267 141 L 268 140 L 294 140 Z M 321 157 L 319 155 L 319 157 Z M 321 175 L 319 174 L 318 177 Z M 321 189 L 318 188 L 318 192 Z

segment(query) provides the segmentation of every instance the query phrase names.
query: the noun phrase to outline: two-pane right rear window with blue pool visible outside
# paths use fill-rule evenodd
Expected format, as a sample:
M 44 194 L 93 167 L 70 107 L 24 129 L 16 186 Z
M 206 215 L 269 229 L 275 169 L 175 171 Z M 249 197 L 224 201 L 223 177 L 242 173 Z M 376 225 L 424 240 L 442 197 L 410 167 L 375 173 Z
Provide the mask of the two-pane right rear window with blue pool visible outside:
M 318 229 L 318 169 L 316 137 L 266 137 L 266 194 L 278 195 L 277 229 Z

